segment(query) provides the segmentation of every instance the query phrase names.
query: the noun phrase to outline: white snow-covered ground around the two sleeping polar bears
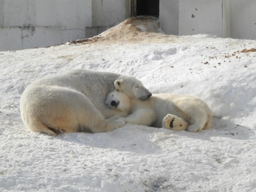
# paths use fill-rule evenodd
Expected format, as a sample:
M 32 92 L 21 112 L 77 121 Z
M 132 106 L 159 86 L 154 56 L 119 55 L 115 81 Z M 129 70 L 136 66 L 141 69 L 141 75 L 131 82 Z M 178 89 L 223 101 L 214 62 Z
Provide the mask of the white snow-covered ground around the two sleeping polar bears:
M 0 52 L 0 191 L 256 191 L 256 40 L 163 35 L 145 32 L 155 20 L 133 22 L 81 43 Z M 24 89 L 74 69 L 198 96 L 214 113 L 211 129 L 30 132 L 19 113 Z

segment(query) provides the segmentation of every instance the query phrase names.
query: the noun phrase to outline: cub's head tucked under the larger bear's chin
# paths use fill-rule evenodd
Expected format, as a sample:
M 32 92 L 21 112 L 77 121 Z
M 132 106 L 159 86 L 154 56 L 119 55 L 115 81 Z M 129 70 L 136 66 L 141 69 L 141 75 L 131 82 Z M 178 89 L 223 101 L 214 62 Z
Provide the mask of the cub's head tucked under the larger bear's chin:
M 106 95 L 105 105 L 109 108 L 129 112 L 131 108 L 130 98 L 120 91 L 112 91 Z

